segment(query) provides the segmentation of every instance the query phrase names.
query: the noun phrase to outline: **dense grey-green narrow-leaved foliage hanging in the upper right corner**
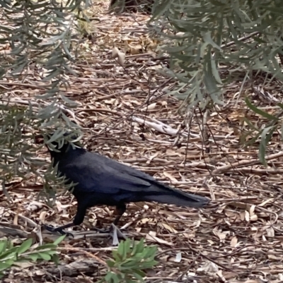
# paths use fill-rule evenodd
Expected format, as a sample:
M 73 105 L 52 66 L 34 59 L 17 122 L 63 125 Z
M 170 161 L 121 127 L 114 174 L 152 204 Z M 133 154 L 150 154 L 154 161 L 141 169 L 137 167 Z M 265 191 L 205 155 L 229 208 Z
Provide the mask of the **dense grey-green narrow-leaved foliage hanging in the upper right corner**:
M 156 1 L 153 20 L 161 49 L 171 56 L 166 73 L 179 80 L 169 93 L 184 100 L 183 109 L 221 104 L 221 88 L 241 72 L 250 79 L 252 71 L 267 72 L 266 83 L 283 80 L 281 1 Z

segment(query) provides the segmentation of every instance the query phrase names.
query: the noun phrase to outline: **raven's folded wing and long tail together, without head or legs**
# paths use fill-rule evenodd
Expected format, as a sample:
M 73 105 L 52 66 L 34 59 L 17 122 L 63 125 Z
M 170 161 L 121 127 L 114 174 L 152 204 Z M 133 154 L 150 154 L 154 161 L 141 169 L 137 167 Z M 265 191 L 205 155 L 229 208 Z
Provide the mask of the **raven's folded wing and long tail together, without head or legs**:
M 62 173 L 79 183 L 77 196 L 93 193 L 99 198 L 104 195 L 101 203 L 157 201 L 188 207 L 208 203 L 207 198 L 166 186 L 142 171 L 93 152 L 85 152 L 76 162 L 67 162 Z

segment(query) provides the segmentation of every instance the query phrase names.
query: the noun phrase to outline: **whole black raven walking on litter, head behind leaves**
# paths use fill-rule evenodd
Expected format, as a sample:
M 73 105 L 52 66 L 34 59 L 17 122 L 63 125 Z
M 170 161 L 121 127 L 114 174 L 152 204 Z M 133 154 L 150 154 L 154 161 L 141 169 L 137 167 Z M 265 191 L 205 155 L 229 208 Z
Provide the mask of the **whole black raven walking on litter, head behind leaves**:
M 186 207 L 203 207 L 209 203 L 207 198 L 171 188 L 142 171 L 82 147 L 74 147 L 74 144 L 64 140 L 64 145 L 59 148 L 57 142 L 52 142 L 59 152 L 47 145 L 53 166 L 58 165 L 58 174 L 65 175 L 69 183 L 76 183 L 72 193 L 78 203 L 74 221 L 54 229 L 49 227 L 52 231 L 64 234 L 63 229 L 81 224 L 86 209 L 95 205 L 116 206 L 118 215 L 113 222 L 116 225 L 127 203 L 156 201 Z

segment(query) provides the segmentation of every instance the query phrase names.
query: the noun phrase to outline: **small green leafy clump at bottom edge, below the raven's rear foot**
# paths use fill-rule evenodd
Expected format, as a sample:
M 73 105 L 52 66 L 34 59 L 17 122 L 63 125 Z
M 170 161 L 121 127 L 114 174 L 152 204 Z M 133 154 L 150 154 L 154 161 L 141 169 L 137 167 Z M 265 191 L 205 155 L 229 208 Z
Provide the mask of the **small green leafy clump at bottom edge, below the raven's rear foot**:
M 108 260 L 108 274 L 100 283 L 134 283 L 144 282 L 143 270 L 156 265 L 157 247 L 145 246 L 141 241 L 122 241 L 116 251 L 112 251 L 113 260 Z

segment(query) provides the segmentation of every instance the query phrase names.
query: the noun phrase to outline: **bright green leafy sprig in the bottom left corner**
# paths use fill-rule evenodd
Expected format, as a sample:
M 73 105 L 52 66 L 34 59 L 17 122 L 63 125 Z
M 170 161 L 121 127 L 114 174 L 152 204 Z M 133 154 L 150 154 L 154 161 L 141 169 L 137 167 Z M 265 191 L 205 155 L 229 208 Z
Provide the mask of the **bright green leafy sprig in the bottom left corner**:
M 13 246 L 8 240 L 0 241 L 0 278 L 4 277 L 4 271 L 13 265 L 21 263 L 36 262 L 38 260 L 52 260 L 59 263 L 56 248 L 63 241 L 65 236 L 60 236 L 53 243 L 47 243 L 43 246 L 33 247 L 33 239 L 24 241 L 20 246 Z

